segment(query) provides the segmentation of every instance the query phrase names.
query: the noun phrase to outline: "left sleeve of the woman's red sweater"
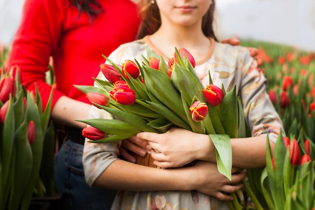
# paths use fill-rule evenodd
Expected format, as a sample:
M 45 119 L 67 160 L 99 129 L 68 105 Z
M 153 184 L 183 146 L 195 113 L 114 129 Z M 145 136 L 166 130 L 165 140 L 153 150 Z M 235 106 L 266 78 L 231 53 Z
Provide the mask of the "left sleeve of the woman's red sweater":
M 59 36 L 68 1 L 26 0 L 20 26 L 15 34 L 8 67 L 18 65 L 21 82 L 27 90 L 35 92 L 35 83 L 44 106 L 48 102 L 51 86 L 46 83 L 46 72 Z M 52 105 L 63 94 L 54 91 Z

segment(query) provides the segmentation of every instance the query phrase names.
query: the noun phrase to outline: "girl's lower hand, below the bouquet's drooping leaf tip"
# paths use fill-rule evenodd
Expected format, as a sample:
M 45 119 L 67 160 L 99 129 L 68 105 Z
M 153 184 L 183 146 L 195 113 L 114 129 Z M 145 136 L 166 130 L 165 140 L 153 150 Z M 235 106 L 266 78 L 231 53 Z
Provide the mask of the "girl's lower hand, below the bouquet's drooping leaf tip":
M 242 189 L 240 182 L 245 178 L 247 171 L 243 170 L 238 174 L 232 174 L 231 181 L 217 170 L 215 163 L 198 161 L 194 166 L 182 168 L 187 172 L 187 182 L 192 189 L 196 189 L 205 194 L 217 197 L 220 200 L 232 200 L 233 197 L 226 193 L 236 192 Z M 232 173 L 239 171 L 232 168 Z

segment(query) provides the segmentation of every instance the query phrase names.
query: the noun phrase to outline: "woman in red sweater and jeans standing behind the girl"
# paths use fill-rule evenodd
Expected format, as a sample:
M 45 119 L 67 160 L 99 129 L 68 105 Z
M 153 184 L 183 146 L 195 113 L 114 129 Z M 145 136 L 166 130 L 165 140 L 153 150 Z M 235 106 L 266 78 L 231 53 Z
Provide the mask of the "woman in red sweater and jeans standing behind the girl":
M 115 191 L 90 188 L 85 181 L 82 153 L 85 123 L 91 108 L 86 95 L 73 85 L 93 85 L 93 77 L 120 44 L 135 39 L 140 20 L 130 0 L 26 0 L 15 34 L 8 67 L 18 65 L 23 85 L 44 107 L 51 92 L 46 72 L 52 58 L 55 88 L 51 119 L 65 125 L 66 138 L 56 157 L 55 186 L 65 209 L 110 209 Z M 145 151 L 144 151 L 145 152 Z

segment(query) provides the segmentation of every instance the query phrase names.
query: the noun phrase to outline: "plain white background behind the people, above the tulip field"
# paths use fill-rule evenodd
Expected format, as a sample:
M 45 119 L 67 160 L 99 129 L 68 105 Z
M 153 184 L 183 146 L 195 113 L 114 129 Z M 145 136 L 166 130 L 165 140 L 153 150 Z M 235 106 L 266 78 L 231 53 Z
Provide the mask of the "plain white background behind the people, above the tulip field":
M 0 0 L 1 43 L 10 44 L 23 1 Z M 216 5 L 219 38 L 236 35 L 315 51 L 315 0 L 216 0 Z

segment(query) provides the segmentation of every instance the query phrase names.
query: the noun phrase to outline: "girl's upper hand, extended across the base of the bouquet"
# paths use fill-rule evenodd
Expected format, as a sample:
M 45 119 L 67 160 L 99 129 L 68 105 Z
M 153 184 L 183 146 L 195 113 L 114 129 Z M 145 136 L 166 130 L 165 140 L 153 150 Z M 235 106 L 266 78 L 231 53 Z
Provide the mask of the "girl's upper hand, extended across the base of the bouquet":
M 161 168 L 176 168 L 194 160 L 212 160 L 213 157 L 215 160 L 215 154 L 211 156 L 213 144 L 208 135 L 171 128 L 162 134 L 141 132 L 137 137 L 148 141 L 155 160 L 153 164 Z

